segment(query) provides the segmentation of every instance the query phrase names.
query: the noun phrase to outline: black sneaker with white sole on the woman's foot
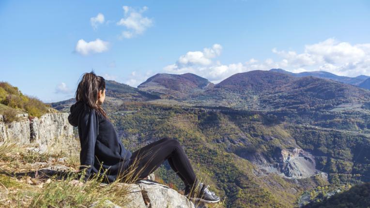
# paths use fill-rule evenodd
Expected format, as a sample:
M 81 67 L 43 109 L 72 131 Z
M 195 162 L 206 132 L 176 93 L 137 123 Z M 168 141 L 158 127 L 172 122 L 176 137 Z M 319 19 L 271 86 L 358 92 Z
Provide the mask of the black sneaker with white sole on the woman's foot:
M 185 196 L 190 200 L 201 201 L 205 203 L 217 203 L 220 201 L 220 198 L 214 192 L 208 190 L 209 186 L 205 186 L 203 183 L 199 183 L 198 187 L 195 187 L 195 190 L 190 190 L 190 186 L 188 188 L 186 187 Z

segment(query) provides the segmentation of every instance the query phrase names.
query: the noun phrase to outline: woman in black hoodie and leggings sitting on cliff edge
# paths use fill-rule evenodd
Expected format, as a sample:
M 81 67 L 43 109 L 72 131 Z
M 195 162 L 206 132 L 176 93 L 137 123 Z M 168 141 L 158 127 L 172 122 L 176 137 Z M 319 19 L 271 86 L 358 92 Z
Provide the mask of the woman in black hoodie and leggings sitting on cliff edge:
M 99 171 L 105 181 L 113 182 L 125 175 L 140 180 L 146 178 L 165 160 L 185 183 L 185 195 L 192 200 L 216 203 L 220 199 L 208 186 L 196 178 L 194 170 L 180 143 L 162 138 L 134 152 L 125 149 L 101 107 L 105 99 L 105 79 L 93 71 L 83 74 L 76 90 L 76 103 L 70 108 L 68 121 L 78 126 L 81 144 L 80 170 L 86 170 L 87 180 Z M 101 168 L 102 167 L 102 168 Z M 198 190 L 197 192 L 191 190 Z

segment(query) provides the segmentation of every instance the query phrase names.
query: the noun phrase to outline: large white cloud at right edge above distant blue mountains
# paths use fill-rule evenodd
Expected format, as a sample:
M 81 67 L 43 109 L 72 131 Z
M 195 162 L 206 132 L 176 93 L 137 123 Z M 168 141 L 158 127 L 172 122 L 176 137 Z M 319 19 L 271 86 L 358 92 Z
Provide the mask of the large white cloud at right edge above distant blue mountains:
M 357 76 L 370 74 L 370 44 L 351 45 L 329 38 L 317 44 L 305 45 L 303 53 L 278 51 L 273 53 L 287 60 L 287 66 L 308 71 L 328 71 L 334 74 Z

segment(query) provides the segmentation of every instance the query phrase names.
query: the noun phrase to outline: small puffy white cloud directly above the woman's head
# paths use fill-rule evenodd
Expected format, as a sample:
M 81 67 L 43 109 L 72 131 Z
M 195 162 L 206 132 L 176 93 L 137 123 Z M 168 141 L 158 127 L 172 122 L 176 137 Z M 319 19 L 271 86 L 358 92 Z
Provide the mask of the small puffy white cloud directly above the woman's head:
M 89 55 L 91 53 L 102 53 L 108 50 L 109 43 L 102 41 L 99 38 L 95 41 L 86 42 L 80 39 L 76 45 L 76 51 L 82 55 Z

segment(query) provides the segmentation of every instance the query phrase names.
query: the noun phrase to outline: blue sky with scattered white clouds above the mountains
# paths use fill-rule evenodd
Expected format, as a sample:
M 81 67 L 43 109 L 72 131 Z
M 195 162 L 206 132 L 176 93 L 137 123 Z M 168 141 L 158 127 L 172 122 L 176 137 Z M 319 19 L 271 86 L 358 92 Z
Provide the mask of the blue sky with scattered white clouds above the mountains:
M 156 73 L 370 75 L 369 22 L 367 0 L 0 0 L 0 81 L 56 102 L 92 69 L 133 87 Z

